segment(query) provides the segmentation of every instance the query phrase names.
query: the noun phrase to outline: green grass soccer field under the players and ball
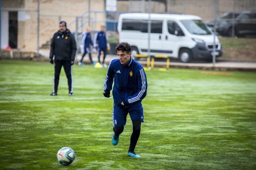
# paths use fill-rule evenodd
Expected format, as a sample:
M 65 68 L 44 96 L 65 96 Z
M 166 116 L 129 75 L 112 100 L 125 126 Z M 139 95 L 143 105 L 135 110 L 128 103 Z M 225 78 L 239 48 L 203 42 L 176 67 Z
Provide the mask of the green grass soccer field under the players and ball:
M 106 68 L 73 67 L 74 97 L 61 71 L 58 96 L 53 66 L 0 60 L 0 169 L 255 169 L 255 72 L 147 71 L 145 123 L 127 156 L 130 117 L 111 144 L 113 99 L 102 95 Z M 112 95 L 111 95 L 112 96 Z M 57 162 L 64 146 L 76 153 Z

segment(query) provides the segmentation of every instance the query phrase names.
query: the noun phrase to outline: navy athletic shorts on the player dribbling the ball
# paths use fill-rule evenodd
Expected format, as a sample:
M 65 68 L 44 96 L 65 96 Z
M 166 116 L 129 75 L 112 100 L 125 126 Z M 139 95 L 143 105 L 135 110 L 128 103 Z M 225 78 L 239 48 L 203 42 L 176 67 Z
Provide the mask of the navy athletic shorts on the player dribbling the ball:
M 113 125 L 115 127 L 125 125 L 128 113 L 131 120 L 141 120 L 141 122 L 144 122 L 143 106 L 141 104 L 121 109 L 117 106 L 117 103 L 114 103 L 112 113 Z

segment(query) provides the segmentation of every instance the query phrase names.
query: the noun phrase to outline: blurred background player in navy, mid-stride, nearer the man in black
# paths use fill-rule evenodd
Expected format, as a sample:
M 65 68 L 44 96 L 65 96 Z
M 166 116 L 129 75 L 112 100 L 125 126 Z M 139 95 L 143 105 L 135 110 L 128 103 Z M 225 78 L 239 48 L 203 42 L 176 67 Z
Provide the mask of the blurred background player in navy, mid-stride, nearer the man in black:
M 88 53 L 89 59 L 90 59 L 92 65 L 95 65 L 96 63 L 92 61 L 92 55 L 91 55 L 91 51 L 90 51 L 90 44 L 93 46 L 92 39 L 91 39 L 90 27 L 88 27 L 86 29 L 86 33 L 84 34 L 83 39 L 82 39 L 82 44 L 84 46 L 84 53 L 82 55 L 82 59 L 80 60 L 80 62 L 78 62 L 78 65 L 84 66 L 83 59 L 84 59 L 84 56 L 86 53 Z

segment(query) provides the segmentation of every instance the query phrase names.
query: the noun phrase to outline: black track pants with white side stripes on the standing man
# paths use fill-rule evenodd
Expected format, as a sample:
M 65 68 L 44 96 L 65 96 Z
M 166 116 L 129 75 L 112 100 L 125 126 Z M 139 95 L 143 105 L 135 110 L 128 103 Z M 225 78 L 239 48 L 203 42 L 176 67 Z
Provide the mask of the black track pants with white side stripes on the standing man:
M 61 67 L 64 67 L 64 71 L 68 78 L 68 90 L 73 93 L 73 75 L 72 75 L 72 66 L 69 61 L 54 61 L 54 80 L 53 80 L 53 92 L 58 92 L 58 85 L 60 80 L 60 70 Z

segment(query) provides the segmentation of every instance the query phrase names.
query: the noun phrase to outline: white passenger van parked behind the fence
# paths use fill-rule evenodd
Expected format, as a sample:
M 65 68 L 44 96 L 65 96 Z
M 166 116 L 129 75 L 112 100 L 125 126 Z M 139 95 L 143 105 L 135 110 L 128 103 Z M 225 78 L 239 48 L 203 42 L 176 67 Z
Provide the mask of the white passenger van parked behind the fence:
M 202 19 L 194 15 L 151 14 L 150 54 L 180 58 L 210 60 L 213 55 L 213 32 Z M 118 41 L 132 46 L 132 56 L 148 54 L 148 14 L 126 13 L 118 19 Z M 215 55 L 222 49 L 215 37 Z

